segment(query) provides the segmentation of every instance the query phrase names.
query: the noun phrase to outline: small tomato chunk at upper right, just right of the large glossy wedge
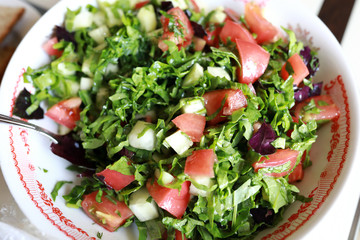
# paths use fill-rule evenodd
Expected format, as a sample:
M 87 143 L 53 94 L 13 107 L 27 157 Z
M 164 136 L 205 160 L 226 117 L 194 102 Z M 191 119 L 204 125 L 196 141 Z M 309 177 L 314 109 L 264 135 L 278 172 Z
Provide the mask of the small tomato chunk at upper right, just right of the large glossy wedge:
M 299 85 L 304 78 L 309 75 L 309 70 L 306 67 L 304 61 L 300 57 L 299 54 L 295 53 L 292 55 L 287 62 L 282 66 L 280 76 L 282 79 L 286 80 L 290 76 L 290 74 L 287 72 L 287 64 L 291 65 L 292 70 L 294 71 L 292 74 L 292 77 L 294 79 L 294 84 Z

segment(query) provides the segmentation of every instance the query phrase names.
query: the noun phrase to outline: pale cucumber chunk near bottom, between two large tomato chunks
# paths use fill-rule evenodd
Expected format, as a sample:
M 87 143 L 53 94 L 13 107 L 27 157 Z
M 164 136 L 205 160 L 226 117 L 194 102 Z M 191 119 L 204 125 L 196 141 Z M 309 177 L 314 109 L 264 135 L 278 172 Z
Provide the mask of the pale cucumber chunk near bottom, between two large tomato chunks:
M 148 201 L 150 194 L 143 187 L 132 193 L 129 198 L 129 208 L 140 222 L 149 221 L 159 217 L 156 203 L 154 199 Z

